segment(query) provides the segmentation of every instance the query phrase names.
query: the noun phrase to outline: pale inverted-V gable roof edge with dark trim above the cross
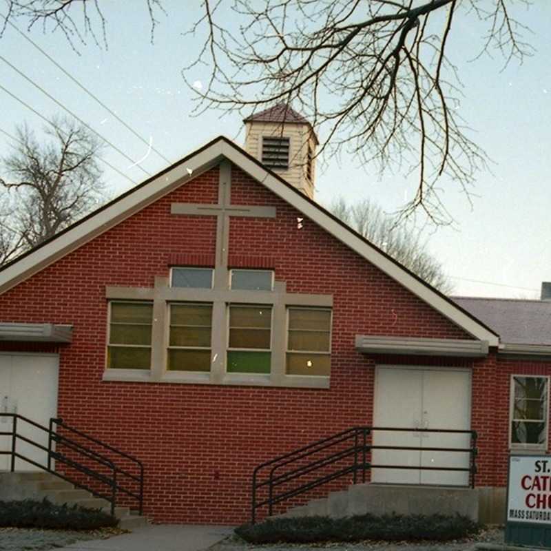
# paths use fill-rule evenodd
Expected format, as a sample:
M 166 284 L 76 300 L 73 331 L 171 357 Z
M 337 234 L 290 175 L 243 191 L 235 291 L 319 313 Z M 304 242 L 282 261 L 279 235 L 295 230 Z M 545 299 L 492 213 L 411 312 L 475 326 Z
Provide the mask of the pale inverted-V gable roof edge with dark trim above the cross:
M 487 340 L 497 346 L 497 333 L 477 320 L 461 306 L 431 287 L 396 260 L 378 249 L 359 233 L 338 220 L 313 200 L 301 194 L 275 172 L 267 169 L 225 136 L 219 136 L 200 149 L 174 163 L 156 176 L 130 189 L 115 200 L 108 202 L 79 222 L 59 232 L 34 249 L 14 259 L 0 269 L 0 293 L 11 289 L 34 273 L 52 264 L 65 254 L 111 229 L 129 216 L 171 191 L 185 185 L 189 180 L 218 165 L 226 158 L 344 243 L 347 247 L 374 264 L 411 293 L 429 304 L 433 309 L 457 324 L 473 337 Z

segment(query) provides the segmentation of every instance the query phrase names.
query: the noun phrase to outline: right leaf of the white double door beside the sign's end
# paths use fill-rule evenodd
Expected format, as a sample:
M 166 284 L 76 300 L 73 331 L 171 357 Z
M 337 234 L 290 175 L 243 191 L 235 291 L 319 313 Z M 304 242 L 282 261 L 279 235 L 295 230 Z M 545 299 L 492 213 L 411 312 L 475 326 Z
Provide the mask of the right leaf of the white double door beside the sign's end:
M 423 372 L 423 419 L 425 428 L 470 428 L 470 373 L 468 371 Z M 468 448 L 470 435 L 426 433 L 424 448 Z M 422 466 L 468 468 L 468 453 L 423 451 Z M 467 486 L 469 473 L 422 470 L 422 484 Z

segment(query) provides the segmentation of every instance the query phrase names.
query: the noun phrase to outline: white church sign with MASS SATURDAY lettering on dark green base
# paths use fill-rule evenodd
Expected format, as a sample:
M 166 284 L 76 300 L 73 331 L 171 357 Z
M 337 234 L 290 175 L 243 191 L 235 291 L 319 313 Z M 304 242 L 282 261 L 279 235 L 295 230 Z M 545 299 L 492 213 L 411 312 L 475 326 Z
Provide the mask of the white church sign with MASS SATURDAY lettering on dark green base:
M 551 549 L 551 456 L 509 457 L 505 541 Z

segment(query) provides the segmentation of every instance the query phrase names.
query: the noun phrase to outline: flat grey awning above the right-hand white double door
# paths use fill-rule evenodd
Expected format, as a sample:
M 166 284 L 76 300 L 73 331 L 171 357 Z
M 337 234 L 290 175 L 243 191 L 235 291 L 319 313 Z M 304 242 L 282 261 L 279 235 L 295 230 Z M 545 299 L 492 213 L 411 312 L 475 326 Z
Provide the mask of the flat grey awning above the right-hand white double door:
M 367 354 L 484 357 L 488 355 L 488 341 L 356 335 L 356 350 Z

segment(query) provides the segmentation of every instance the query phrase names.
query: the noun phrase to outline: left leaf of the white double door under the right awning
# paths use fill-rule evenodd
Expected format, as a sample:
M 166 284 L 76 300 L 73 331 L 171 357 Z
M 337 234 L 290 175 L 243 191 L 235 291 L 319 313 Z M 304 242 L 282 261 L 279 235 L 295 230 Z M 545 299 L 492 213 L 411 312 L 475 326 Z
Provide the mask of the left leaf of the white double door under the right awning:
M 373 424 L 393 428 L 415 428 L 421 422 L 422 371 L 413 369 L 377 368 L 375 412 Z M 375 430 L 373 445 L 419 447 L 419 435 L 391 430 Z M 417 450 L 373 450 L 374 465 L 418 467 L 421 453 Z M 418 469 L 374 468 L 371 480 L 379 483 L 419 484 Z

